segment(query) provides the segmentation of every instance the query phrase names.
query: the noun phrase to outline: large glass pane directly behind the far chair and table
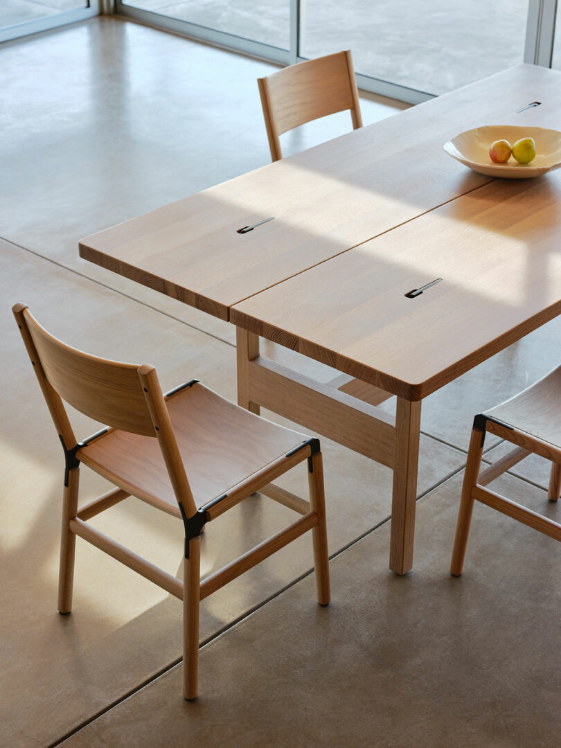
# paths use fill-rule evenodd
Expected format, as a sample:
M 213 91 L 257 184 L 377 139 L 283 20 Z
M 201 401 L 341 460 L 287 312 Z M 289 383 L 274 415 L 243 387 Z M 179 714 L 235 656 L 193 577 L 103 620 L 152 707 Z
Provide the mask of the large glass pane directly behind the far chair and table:
M 524 61 L 528 0 L 305 0 L 300 55 L 351 49 L 357 73 L 445 93 Z

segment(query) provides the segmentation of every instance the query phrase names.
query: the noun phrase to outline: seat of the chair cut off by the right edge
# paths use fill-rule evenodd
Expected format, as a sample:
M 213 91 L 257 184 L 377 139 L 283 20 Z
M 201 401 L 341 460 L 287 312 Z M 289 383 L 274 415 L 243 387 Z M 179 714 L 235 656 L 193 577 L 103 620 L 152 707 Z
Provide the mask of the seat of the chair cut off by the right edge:
M 561 447 L 561 367 L 485 415 Z

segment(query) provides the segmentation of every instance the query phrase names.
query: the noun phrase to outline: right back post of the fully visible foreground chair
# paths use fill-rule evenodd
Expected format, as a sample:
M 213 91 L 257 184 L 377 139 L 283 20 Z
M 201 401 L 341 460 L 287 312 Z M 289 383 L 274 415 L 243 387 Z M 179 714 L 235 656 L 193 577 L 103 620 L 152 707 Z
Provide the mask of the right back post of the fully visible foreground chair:
M 165 404 L 156 369 L 150 364 L 142 364 L 141 367 L 138 367 L 138 378 L 144 390 L 144 398 L 148 411 L 150 411 L 160 450 L 162 450 L 162 457 L 166 468 L 168 468 L 177 503 L 183 507 L 186 517 L 191 518 L 196 515 L 197 506 L 191 493 L 191 486 L 177 446 L 174 427 L 171 425 L 168 407 Z

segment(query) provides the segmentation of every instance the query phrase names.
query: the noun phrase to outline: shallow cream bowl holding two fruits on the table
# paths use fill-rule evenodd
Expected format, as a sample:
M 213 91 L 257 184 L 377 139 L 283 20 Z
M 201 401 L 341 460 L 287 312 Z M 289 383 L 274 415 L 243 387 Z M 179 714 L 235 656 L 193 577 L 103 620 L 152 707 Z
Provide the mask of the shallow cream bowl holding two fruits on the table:
M 489 146 L 497 140 L 507 140 L 511 145 L 521 138 L 533 138 L 536 157 L 529 164 L 519 164 L 514 156 L 505 164 L 495 164 L 489 156 Z M 444 150 L 453 159 L 488 177 L 506 177 L 520 180 L 539 177 L 561 166 L 561 132 L 545 127 L 489 125 L 466 130 L 444 144 Z

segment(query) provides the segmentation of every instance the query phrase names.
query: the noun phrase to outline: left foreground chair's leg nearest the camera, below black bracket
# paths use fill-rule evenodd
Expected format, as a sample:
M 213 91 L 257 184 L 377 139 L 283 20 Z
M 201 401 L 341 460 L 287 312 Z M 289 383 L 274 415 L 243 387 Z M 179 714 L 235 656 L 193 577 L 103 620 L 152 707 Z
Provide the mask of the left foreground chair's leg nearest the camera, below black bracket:
M 183 696 L 197 698 L 199 674 L 200 536 L 183 560 Z

